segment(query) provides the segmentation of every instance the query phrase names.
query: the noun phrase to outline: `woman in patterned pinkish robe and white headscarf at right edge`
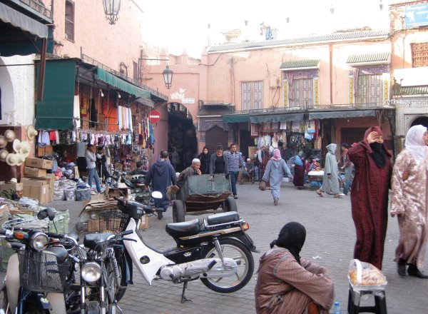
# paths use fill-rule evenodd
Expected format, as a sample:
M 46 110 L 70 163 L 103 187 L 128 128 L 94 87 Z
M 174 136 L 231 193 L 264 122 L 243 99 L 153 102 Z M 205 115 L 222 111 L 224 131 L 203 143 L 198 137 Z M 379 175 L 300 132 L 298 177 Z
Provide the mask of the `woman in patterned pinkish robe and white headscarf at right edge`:
M 424 266 L 428 243 L 428 132 L 424 126 L 412 126 L 406 136 L 406 148 L 398 154 L 392 170 L 391 216 L 397 215 L 399 242 L 395 261 L 399 275 L 428 278 Z M 407 176 L 404 176 L 407 173 Z M 407 177 L 404 180 L 404 177 Z

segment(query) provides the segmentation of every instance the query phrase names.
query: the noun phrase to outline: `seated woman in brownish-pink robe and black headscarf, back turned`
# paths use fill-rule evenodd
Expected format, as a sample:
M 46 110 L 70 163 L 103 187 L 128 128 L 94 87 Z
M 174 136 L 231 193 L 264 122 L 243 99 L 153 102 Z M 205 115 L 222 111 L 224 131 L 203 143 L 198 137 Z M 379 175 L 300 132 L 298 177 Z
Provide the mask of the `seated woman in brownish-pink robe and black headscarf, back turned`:
M 300 257 L 306 230 L 287 223 L 260 258 L 255 310 L 268 313 L 329 313 L 335 289 L 327 270 Z

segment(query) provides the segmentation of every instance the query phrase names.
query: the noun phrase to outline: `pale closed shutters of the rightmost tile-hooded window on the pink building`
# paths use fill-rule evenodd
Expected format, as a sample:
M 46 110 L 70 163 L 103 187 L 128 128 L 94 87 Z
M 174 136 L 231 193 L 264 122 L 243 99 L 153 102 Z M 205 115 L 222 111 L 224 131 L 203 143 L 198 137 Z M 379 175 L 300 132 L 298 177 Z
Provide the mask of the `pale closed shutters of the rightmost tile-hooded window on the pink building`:
M 382 102 L 382 75 L 359 75 L 357 104 L 379 106 Z

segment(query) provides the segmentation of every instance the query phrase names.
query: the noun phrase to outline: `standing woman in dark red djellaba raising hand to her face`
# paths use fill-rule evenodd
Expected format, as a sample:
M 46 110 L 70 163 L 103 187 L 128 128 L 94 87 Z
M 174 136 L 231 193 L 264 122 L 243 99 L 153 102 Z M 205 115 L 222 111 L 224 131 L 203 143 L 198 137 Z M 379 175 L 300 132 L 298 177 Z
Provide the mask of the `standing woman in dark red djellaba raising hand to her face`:
M 352 146 L 348 155 L 355 165 L 351 193 L 357 231 L 354 258 L 382 269 L 392 166 L 379 126 L 368 128 L 364 140 Z

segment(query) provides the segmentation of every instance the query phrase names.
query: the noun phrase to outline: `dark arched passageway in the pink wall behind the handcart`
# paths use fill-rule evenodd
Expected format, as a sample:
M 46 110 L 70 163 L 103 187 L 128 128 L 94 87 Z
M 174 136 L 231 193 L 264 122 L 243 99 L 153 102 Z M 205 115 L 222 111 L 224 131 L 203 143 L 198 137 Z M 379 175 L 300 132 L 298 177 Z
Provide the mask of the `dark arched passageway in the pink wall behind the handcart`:
M 172 148 L 180 156 L 180 164 L 175 169 L 178 172 L 183 171 L 189 159 L 191 161 L 198 153 L 193 118 L 181 103 L 168 103 L 168 151 Z

